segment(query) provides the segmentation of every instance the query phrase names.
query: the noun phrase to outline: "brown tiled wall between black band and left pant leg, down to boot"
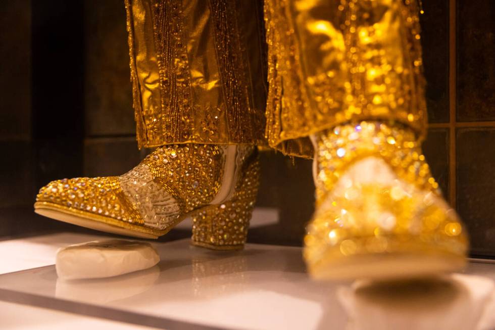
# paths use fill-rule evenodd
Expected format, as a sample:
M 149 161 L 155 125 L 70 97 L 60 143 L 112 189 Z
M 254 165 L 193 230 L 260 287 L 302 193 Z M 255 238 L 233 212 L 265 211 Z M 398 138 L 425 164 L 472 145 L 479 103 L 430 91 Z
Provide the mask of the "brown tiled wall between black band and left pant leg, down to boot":
M 142 157 L 135 140 L 122 0 L 84 2 L 84 175 L 123 174 Z

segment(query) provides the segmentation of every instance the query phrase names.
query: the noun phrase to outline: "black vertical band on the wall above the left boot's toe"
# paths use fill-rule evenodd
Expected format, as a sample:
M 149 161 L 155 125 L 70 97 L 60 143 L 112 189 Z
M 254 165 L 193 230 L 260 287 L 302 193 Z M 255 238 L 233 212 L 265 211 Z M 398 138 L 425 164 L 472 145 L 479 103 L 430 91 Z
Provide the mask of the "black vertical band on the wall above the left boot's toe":
M 31 5 L 30 124 L 39 186 L 82 173 L 84 22 L 82 0 Z

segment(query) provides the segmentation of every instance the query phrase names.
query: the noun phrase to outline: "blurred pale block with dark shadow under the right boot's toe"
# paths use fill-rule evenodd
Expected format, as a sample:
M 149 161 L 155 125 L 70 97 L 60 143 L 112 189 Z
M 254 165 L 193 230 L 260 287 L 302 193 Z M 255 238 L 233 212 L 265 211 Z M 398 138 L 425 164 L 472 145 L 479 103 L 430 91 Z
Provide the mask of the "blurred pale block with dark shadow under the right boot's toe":
M 348 329 L 493 329 L 493 281 L 452 274 L 439 278 L 370 284 L 337 290 Z

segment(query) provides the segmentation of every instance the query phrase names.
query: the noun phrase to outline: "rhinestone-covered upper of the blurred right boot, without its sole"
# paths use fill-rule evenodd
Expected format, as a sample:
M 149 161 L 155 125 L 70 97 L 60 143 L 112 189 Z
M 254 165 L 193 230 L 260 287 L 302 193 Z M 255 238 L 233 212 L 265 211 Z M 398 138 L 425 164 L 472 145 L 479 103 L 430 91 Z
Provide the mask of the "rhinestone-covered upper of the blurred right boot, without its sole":
M 317 144 L 317 206 L 304 250 L 310 271 L 367 254 L 464 258 L 466 232 L 441 197 L 413 130 L 363 121 L 336 126 L 318 135 Z M 398 179 L 345 177 L 353 164 L 370 157 L 383 160 Z

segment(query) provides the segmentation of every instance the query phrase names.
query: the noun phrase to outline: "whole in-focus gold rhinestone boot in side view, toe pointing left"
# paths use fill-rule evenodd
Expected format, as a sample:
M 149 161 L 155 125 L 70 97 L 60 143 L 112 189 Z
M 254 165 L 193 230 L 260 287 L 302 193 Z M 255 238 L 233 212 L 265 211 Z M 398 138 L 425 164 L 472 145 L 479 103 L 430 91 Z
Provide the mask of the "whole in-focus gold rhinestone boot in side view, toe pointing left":
M 192 243 L 241 249 L 259 184 L 251 146 L 164 146 L 121 176 L 56 180 L 42 187 L 35 212 L 56 220 L 156 239 L 187 217 Z

